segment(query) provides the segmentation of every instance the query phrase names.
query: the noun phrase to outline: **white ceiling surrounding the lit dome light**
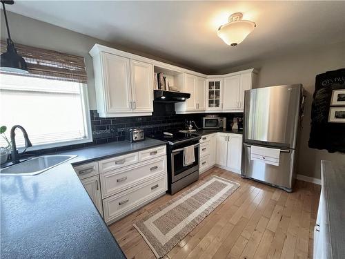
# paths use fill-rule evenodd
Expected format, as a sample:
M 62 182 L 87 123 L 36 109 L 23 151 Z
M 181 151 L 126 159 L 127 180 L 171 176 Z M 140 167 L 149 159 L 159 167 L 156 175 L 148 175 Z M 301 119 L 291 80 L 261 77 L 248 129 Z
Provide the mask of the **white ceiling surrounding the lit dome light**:
M 345 1 L 15 1 L 8 10 L 204 72 L 345 41 Z M 236 47 L 216 34 L 233 12 L 257 23 Z

